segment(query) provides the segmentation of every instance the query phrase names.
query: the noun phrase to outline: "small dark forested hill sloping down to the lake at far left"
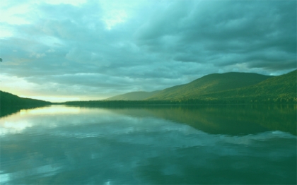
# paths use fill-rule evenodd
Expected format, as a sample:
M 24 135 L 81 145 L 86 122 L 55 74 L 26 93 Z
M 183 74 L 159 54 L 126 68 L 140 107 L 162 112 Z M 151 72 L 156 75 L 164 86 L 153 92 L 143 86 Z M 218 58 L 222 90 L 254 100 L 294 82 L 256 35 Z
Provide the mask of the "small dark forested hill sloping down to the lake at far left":
M 1 107 L 25 107 L 25 106 L 40 106 L 50 105 L 51 102 L 35 100 L 30 98 L 18 97 L 11 93 L 6 93 L 0 90 L 0 106 Z

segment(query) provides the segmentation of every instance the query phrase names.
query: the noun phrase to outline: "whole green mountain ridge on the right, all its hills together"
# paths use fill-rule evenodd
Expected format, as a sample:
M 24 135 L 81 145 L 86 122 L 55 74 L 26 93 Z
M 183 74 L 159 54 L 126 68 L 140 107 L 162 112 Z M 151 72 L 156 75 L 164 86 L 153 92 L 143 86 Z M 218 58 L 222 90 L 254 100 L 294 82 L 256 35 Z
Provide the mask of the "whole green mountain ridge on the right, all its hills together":
M 117 95 L 112 100 L 202 102 L 297 102 L 297 70 L 281 76 L 257 73 L 213 73 L 183 85 L 175 85 L 153 95 L 136 98 L 139 92 Z M 133 97 L 134 96 L 134 97 Z M 120 98 L 121 99 L 120 99 Z M 133 97 L 133 99 L 131 98 Z M 111 100 L 111 99 L 107 99 Z M 199 102 L 199 101 L 198 101 Z

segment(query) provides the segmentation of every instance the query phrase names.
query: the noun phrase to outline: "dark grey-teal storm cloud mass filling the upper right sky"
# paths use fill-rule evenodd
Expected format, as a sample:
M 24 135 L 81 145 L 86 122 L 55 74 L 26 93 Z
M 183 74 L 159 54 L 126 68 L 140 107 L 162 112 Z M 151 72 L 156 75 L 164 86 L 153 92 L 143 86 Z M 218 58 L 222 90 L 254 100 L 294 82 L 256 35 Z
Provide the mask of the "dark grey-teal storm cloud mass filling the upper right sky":
M 296 66 L 296 1 L 178 1 L 155 15 L 136 32 L 136 41 L 173 60 Z

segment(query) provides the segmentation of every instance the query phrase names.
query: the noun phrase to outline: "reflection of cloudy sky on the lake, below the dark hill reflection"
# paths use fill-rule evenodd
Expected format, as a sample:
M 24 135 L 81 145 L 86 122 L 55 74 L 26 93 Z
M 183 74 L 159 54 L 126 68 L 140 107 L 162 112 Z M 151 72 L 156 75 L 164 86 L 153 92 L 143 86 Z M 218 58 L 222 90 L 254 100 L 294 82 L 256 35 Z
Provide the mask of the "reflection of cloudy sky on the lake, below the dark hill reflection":
M 296 182 L 296 136 L 291 133 L 266 131 L 229 136 L 206 133 L 158 117 L 118 114 L 111 109 L 80 111 L 80 114 L 15 114 L 4 118 L 11 123 L 22 120 L 30 126 L 17 133 L 7 132 L 1 138 L 1 175 L 6 177 L 1 181 L 4 184 Z

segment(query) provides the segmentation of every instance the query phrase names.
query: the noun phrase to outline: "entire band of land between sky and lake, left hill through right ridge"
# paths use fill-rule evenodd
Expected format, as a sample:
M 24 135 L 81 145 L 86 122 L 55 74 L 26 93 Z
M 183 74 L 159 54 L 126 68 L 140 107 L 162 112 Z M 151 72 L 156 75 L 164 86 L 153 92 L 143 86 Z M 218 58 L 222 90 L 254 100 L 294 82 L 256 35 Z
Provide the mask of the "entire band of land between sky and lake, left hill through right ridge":
M 153 92 L 132 92 L 107 100 L 66 105 L 195 105 L 209 103 L 297 103 L 297 70 L 281 76 L 257 73 L 214 73 L 183 85 Z M 18 97 L 0 90 L 1 113 L 7 107 L 36 107 L 52 102 Z M 57 104 L 57 103 L 56 103 Z

